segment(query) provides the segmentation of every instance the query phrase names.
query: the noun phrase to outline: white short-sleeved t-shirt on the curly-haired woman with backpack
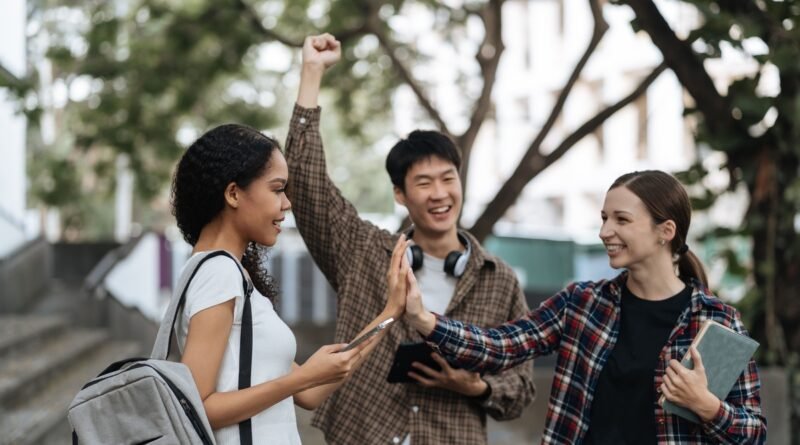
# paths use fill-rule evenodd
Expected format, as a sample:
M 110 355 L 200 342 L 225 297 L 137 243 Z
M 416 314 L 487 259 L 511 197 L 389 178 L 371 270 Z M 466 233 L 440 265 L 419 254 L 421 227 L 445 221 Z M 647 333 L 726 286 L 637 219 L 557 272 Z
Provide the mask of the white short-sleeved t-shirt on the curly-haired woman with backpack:
M 184 270 L 181 274 L 186 273 Z M 222 357 L 217 378 L 217 392 L 235 391 L 239 386 L 239 343 L 243 308 L 242 274 L 228 257 L 211 258 L 200 266 L 189 289 L 186 304 L 175 324 L 178 346 L 183 353 L 189 320 L 196 313 L 235 298 L 233 328 L 228 347 Z M 288 374 L 292 369 L 297 343 L 291 329 L 278 317 L 272 302 L 253 290 L 250 296 L 253 314 L 252 386 Z M 253 441 L 279 445 L 299 445 L 294 399 L 286 398 L 251 418 Z M 221 445 L 239 444 L 239 426 L 231 425 L 214 430 Z

